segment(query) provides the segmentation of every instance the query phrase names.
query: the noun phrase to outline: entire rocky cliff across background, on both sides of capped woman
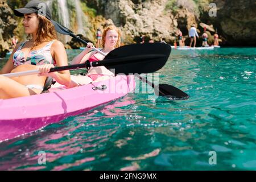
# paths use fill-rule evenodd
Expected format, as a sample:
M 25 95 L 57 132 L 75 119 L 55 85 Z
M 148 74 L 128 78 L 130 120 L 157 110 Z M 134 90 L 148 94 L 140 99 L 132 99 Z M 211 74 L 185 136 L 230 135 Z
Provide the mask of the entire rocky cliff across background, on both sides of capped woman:
M 9 40 L 18 35 L 21 38 L 22 26 L 15 22 L 10 9 L 26 4 L 28 0 L 0 0 L 0 52 L 9 48 Z M 56 0 L 52 3 L 53 18 L 61 18 Z M 75 2 L 67 0 L 70 17 L 69 27 L 74 32 L 78 30 Z M 145 36 L 158 42 L 164 38 L 173 44 L 176 39 L 177 28 L 185 38 L 192 24 L 196 24 L 199 35 L 202 34 L 201 22 L 212 25 L 218 30 L 222 46 L 256 46 L 256 4 L 255 0 L 80 0 L 83 11 L 83 27 L 85 37 L 96 41 L 95 31 L 102 30 L 108 24 L 115 24 L 122 30 L 123 43 L 140 42 Z M 217 15 L 209 16 L 209 3 L 217 7 Z M 7 5 L 10 6 L 8 6 Z M 61 22 L 61 21 L 60 21 Z M 18 28 L 15 29 L 18 23 Z M 15 31 L 14 31 L 15 29 Z M 213 41 L 213 31 L 208 31 L 209 43 Z M 62 39 L 64 40 L 64 39 Z M 187 39 L 189 41 L 189 39 Z M 199 46 L 199 44 L 197 45 Z M 70 46 L 69 46 L 70 47 Z M 71 45 L 72 47 L 72 45 Z

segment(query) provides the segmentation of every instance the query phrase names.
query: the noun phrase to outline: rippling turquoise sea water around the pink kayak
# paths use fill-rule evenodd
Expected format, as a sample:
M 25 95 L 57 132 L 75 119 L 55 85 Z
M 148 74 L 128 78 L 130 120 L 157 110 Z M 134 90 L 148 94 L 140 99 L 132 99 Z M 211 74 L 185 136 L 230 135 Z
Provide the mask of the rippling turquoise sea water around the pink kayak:
M 78 52 L 68 51 L 69 59 Z M 255 70 L 255 48 L 172 51 L 159 82 L 189 100 L 154 98 L 150 88 L 130 93 L 0 143 L 0 169 L 255 170 Z M 39 151 L 46 165 L 38 164 Z M 210 151 L 217 164 L 209 164 Z

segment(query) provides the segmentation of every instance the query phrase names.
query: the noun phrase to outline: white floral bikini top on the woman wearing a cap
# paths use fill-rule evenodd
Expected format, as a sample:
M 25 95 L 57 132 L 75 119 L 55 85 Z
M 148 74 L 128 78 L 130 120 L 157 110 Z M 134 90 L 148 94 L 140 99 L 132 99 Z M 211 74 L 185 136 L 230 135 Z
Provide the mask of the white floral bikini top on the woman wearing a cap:
M 30 51 L 27 56 L 27 60 L 25 60 L 24 52 L 21 51 L 22 47 L 26 42 L 20 44 L 19 48 L 13 55 L 13 64 L 14 67 L 22 64 L 32 64 L 32 65 L 43 65 L 43 64 L 55 64 L 55 60 L 53 60 L 51 54 L 51 46 L 54 40 L 48 43 L 43 48 L 39 50 Z

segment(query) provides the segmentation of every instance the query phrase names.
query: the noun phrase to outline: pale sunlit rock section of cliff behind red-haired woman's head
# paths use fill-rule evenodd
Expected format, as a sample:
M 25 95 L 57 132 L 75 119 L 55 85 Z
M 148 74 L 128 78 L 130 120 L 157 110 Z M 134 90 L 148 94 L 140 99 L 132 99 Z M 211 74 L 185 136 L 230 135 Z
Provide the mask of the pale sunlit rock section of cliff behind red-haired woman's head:
M 174 15 L 171 10 L 166 10 L 167 2 L 168 0 L 106 1 L 104 14 L 116 26 L 121 27 L 127 43 L 139 42 L 142 35 L 146 36 L 146 40 L 159 41 L 162 36 L 166 42 L 173 42 L 178 22 L 184 22 L 184 27 L 187 27 L 188 24 L 195 23 L 195 15 L 187 9 L 181 9 Z

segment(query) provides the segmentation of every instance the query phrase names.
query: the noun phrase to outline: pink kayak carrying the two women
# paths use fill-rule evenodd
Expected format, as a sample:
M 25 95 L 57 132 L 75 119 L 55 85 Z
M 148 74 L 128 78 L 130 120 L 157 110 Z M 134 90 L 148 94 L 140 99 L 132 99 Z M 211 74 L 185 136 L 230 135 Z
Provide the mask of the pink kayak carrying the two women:
M 134 89 L 134 76 L 116 76 L 93 85 L 0 100 L 0 142 L 117 100 Z

